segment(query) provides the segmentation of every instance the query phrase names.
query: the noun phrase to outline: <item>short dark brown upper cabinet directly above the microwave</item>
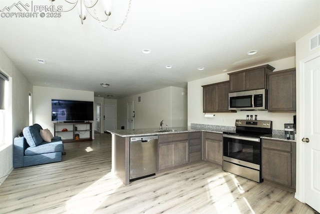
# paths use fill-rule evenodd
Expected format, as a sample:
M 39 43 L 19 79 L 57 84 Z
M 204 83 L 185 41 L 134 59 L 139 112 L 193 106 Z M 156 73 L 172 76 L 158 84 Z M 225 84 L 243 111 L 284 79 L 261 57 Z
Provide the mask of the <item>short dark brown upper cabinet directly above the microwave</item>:
M 273 70 L 274 68 L 272 66 L 263 65 L 229 73 L 230 92 L 266 89 L 266 74 L 272 72 Z

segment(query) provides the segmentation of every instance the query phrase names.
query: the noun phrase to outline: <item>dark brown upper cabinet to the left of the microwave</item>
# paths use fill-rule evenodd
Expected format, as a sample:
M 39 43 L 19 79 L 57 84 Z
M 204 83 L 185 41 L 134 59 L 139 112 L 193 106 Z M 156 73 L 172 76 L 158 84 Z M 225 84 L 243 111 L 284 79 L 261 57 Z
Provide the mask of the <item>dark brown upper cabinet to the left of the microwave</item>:
M 203 113 L 230 112 L 228 110 L 229 81 L 204 85 Z

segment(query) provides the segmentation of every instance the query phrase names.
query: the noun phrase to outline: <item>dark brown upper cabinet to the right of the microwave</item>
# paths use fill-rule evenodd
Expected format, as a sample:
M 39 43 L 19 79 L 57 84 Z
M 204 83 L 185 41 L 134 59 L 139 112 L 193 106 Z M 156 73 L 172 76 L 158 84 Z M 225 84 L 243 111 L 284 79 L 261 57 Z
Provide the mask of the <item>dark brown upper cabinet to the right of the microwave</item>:
M 268 111 L 294 112 L 295 68 L 268 73 Z

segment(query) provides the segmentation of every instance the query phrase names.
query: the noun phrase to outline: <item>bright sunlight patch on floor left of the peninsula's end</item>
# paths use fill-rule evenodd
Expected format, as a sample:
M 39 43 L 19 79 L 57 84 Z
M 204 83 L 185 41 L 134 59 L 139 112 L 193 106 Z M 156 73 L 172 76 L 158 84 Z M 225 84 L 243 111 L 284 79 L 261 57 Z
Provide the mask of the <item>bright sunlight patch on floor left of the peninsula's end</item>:
M 94 211 L 112 195 L 112 193 L 122 185 L 116 182 L 108 184 L 112 178 L 111 172 L 107 173 L 94 183 L 84 188 L 78 194 L 66 201 L 66 213 L 94 213 Z M 109 187 L 112 186 L 110 189 Z

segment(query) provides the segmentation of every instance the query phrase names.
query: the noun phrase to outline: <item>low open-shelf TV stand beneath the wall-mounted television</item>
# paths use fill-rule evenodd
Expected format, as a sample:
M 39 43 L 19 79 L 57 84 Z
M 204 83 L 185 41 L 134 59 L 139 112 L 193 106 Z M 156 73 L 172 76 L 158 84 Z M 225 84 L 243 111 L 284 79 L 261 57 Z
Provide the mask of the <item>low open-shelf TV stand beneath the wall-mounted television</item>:
M 92 123 L 54 123 L 54 136 L 61 137 L 63 143 L 90 141 L 92 140 Z

